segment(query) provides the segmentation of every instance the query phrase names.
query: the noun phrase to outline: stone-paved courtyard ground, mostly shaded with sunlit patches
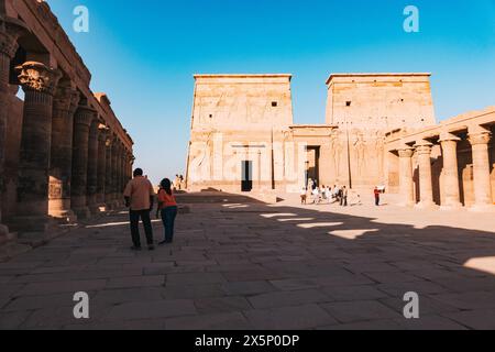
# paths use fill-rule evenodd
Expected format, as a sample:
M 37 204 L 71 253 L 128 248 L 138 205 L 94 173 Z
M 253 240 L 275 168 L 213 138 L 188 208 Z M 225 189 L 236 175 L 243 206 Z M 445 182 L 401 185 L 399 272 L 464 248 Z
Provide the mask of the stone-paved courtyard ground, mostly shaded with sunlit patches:
M 0 328 L 495 329 L 493 215 L 223 198 L 185 197 L 154 252 L 129 250 L 118 212 L 0 263 Z

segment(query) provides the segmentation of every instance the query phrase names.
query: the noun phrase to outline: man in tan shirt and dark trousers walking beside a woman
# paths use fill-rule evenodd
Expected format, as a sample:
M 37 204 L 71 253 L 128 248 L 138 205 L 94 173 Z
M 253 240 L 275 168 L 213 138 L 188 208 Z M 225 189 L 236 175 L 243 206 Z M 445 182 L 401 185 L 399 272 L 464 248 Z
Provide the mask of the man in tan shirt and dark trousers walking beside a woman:
M 140 219 L 143 221 L 144 232 L 146 233 L 147 249 L 155 249 L 153 242 L 153 228 L 150 212 L 153 209 L 155 191 L 151 182 L 143 176 L 143 170 L 136 168 L 134 178 L 131 179 L 124 190 L 125 207 L 129 208 L 129 218 L 131 222 L 131 235 L 133 246 L 131 250 L 141 251 Z

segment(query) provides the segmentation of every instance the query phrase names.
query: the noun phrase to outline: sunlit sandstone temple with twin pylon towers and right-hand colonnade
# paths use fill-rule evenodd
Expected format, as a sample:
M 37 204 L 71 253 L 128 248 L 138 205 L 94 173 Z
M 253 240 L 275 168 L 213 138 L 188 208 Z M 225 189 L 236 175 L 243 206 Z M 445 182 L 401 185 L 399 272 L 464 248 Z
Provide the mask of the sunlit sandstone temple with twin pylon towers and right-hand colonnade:
M 493 209 L 495 108 L 436 122 L 430 74 L 339 74 L 324 124 L 293 122 L 290 75 L 195 76 L 189 190 L 384 186 L 405 206 Z

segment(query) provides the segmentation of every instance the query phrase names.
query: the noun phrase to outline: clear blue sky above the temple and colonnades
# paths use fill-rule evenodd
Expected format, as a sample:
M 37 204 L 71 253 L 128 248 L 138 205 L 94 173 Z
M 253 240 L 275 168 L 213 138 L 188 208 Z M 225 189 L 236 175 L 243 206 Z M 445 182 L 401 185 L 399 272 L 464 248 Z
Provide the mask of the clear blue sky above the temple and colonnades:
M 295 122 L 330 73 L 431 72 L 438 120 L 495 105 L 495 0 L 48 0 L 153 180 L 185 172 L 196 73 L 292 73 Z M 86 6 L 90 32 L 73 31 Z M 420 33 L 403 30 L 420 10 Z

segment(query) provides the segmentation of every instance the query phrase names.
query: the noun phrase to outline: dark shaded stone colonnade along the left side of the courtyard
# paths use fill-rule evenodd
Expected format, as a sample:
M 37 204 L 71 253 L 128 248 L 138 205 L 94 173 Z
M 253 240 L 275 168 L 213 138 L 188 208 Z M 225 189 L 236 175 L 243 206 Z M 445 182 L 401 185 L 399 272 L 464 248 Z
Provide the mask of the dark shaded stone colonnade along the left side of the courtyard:
M 121 202 L 133 142 L 90 79 L 46 2 L 0 2 L 0 241 Z

